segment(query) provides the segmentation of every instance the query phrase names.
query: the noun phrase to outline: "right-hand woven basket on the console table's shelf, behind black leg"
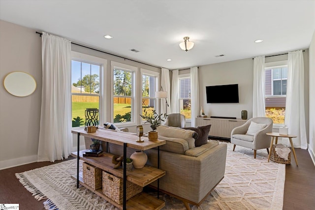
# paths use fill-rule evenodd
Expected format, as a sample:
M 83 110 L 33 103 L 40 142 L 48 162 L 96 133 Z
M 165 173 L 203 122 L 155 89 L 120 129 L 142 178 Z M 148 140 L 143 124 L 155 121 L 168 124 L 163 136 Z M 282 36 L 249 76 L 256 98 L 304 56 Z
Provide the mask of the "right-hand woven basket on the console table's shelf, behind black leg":
M 123 178 L 116 177 L 112 174 L 109 174 L 103 171 L 103 193 L 113 201 L 118 204 L 123 203 L 123 187 L 124 187 L 124 180 Z M 127 200 L 136 194 L 142 192 L 142 187 L 127 181 L 126 183 L 126 197 Z

